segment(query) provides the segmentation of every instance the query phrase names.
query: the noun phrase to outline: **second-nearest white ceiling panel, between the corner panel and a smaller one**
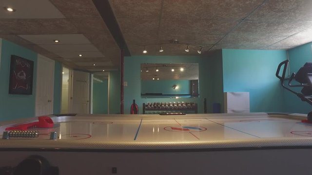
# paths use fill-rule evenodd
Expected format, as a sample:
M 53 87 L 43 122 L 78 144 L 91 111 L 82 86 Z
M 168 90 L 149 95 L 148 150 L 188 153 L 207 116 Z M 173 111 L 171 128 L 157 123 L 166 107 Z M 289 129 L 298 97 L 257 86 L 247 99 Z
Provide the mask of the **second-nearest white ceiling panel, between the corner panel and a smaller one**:
M 34 44 L 90 44 L 91 42 L 82 34 L 64 34 L 64 35 L 19 35 L 20 37 Z M 54 40 L 59 40 L 58 43 Z

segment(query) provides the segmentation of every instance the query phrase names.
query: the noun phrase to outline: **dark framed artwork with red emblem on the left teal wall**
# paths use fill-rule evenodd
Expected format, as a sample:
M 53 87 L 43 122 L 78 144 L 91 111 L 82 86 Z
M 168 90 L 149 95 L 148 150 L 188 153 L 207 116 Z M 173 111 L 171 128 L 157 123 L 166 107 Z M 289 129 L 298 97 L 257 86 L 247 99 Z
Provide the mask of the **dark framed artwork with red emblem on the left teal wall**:
M 33 93 L 34 62 L 11 55 L 9 94 Z

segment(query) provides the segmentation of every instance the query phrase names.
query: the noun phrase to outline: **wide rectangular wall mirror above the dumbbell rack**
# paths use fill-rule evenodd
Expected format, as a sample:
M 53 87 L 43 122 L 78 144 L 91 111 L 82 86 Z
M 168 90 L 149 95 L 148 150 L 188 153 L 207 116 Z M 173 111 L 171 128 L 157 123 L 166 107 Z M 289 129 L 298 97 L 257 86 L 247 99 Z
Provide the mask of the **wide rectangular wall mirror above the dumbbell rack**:
M 195 98 L 198 63 L 142 63 L 141 98 Z

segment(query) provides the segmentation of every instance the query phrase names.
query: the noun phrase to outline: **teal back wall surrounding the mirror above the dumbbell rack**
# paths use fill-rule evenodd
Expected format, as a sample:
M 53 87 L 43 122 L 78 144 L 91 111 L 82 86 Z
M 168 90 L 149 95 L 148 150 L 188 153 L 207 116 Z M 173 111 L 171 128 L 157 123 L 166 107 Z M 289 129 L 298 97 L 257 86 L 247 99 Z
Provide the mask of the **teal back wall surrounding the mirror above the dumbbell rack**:
M 199 56 L 126 56 L 124 62 L 124 81 L 127 86 L 124 87 L 124 113 L 130 113 L 130 106 L 133 99 L 139 107 L 139 113 L 142 114 L 142 104 L 147 102 L 194 102 L 198 104 L 198 113 L 203 113 L 203 98 L 201 95 L 205 83 L 201 83 L 201 77 L 205 76 L 203 70 L 203 58 Z M 199 98 L 141 98 L 141 80 L 140 64 L 141 63 L 199 63 Z

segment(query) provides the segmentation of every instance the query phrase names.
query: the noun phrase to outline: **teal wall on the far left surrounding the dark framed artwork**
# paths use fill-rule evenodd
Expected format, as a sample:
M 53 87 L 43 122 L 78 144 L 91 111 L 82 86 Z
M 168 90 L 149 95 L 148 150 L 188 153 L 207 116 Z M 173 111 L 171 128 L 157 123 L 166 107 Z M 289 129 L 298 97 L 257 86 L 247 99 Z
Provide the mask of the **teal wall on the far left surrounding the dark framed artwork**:
M 35 92 L 37 78 L 37 53 L 2 39 L 0 64 L 0 121 L 35 116 Z M 11 55 L 34 61 L 32 95 L 9 94 L 9 71 Z

